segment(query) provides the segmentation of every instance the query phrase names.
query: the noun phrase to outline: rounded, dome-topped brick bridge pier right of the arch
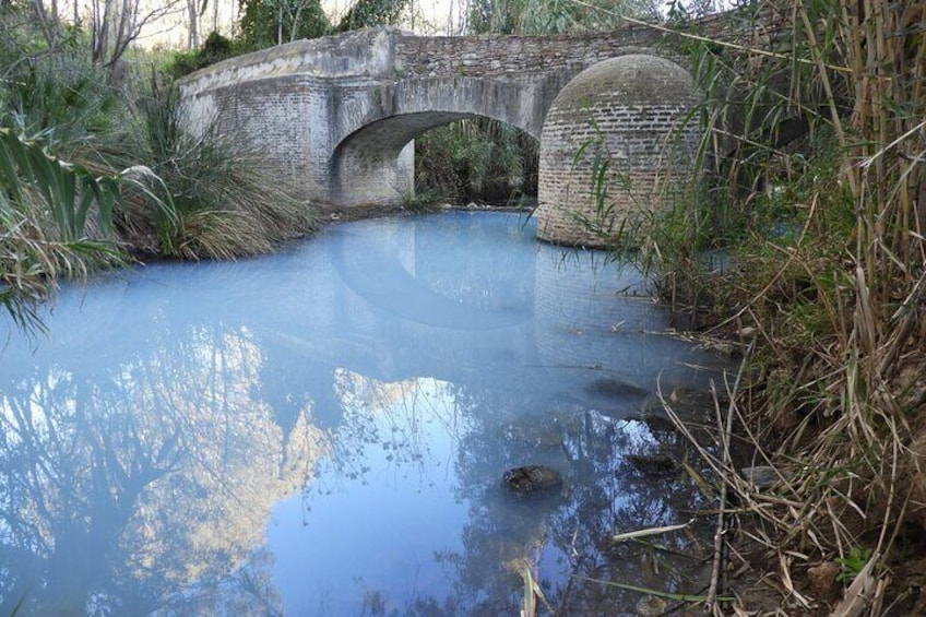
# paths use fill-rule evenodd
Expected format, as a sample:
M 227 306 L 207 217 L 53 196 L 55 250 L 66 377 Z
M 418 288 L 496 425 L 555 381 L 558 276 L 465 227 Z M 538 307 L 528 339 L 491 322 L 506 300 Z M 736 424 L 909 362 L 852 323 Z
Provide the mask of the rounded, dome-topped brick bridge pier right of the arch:
M 538 235 L 606 247 L 663 207 L 688 176 L 696 135 L 684 119 L 691 80 L 654 56 L 622 56 L 580 73 L 541 137 Z

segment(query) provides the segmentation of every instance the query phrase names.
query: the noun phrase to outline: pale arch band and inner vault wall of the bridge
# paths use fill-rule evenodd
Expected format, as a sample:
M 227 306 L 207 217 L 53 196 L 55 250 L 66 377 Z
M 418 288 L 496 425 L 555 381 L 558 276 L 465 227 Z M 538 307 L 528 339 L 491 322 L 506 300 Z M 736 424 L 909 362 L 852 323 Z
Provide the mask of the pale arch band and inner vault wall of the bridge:
M 474 78 L 416 79 L 372 88 L 376 100 L 369 114 L 342 118 L 345 129 L 331 159 L 335 201 L 395 203 L 411 194 L 409 144 L 456 120 L 491 118 L 539 141 L 546 110 L 559 90 L 556 81 L 524 85 Z

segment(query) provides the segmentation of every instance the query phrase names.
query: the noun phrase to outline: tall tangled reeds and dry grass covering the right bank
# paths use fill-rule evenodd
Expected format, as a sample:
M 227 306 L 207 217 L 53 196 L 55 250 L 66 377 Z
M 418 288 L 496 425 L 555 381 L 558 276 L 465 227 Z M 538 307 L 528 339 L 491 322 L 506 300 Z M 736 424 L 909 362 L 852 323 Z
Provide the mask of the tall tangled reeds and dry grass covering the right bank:
M 790 610 L 876 615 L 926 531 L 926 9 L 770 0 L 726 19 L 682 35 L 705 173 L 644 252 L 666 296 L 749 349 L 729 417 L 779 482 L 712 463 Z

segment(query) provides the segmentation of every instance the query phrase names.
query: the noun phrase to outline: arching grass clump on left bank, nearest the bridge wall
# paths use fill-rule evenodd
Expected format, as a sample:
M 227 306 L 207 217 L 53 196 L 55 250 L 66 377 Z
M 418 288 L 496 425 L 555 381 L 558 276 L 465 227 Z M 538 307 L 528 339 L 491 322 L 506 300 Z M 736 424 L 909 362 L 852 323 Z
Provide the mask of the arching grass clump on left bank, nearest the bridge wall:
M 96 164 L 127 169 L 132 180 L 117 228 L 143 253 L 233 259 L 314 228 L 310 206 L 260 173 L 257 154 L 214 128 L 183 131 L 175 88 L 139 97 L 123 129 L 102 141 Z

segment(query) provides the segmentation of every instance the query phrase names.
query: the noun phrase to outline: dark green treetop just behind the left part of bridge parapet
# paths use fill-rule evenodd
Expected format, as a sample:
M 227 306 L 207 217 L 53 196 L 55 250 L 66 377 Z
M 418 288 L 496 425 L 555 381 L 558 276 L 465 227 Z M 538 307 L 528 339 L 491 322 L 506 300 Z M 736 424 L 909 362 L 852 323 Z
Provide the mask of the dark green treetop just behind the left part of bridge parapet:
M 238 9 L 242 52 L 317 38 L 332 31 L 320 0 L 240 0 Z

